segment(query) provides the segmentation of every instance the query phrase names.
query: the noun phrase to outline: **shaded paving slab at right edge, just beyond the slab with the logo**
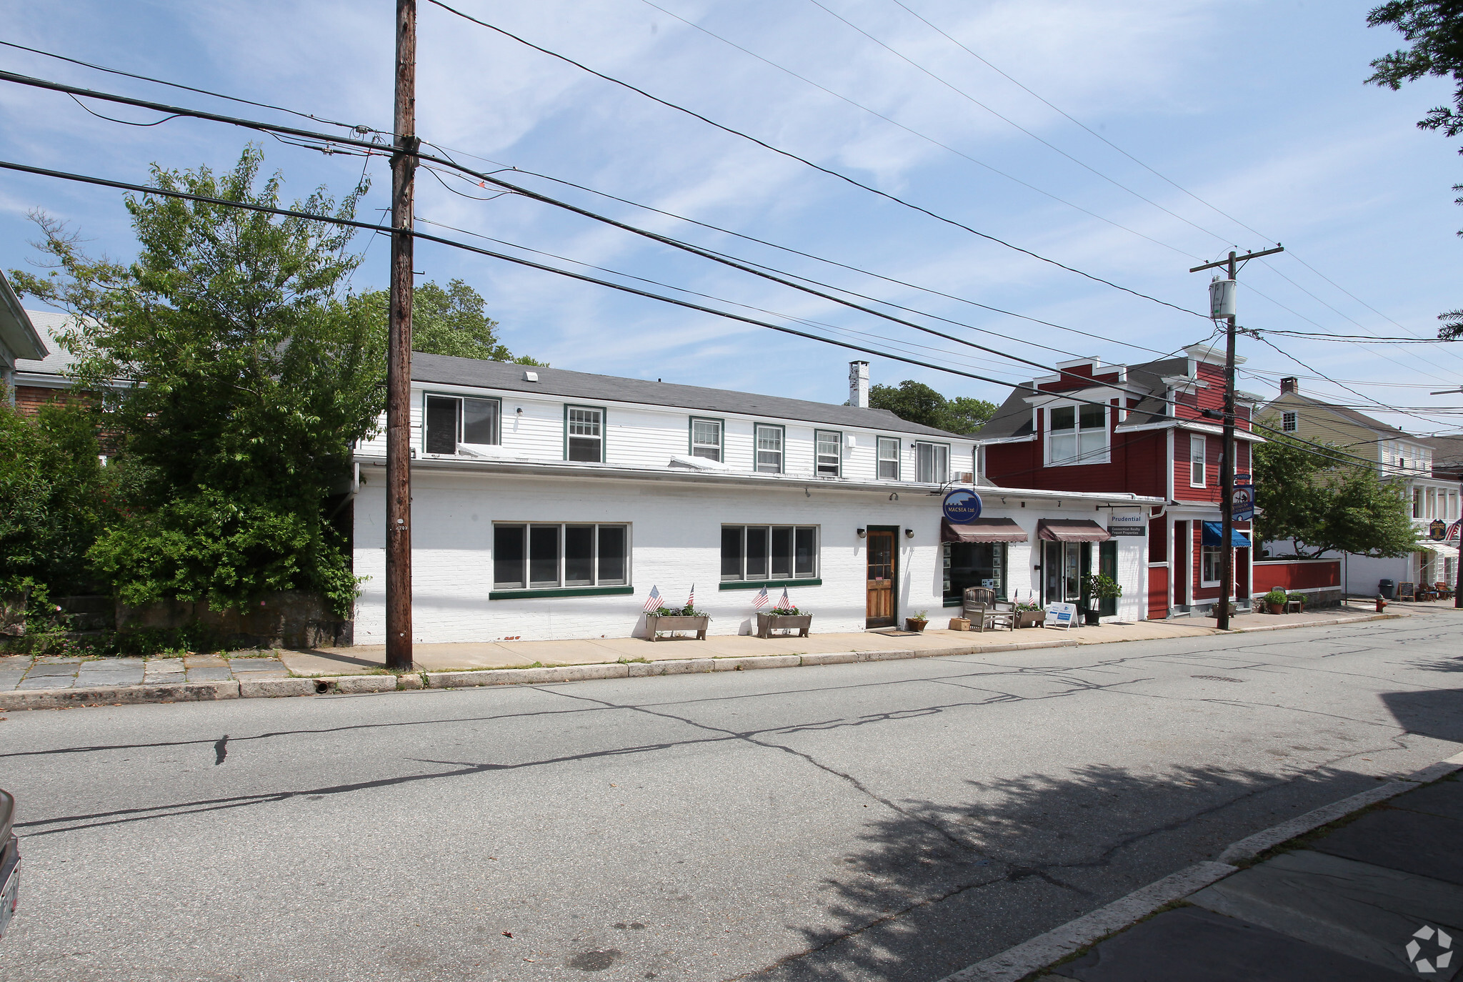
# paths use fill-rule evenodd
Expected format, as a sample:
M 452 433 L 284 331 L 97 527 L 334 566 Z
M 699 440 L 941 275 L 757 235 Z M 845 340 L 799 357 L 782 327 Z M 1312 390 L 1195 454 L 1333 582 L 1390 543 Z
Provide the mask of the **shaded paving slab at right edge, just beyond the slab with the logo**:
M 1311 849 L 1463 885 L 1459 843 L 1463 821 L 1383 808 L 1311 843 Z

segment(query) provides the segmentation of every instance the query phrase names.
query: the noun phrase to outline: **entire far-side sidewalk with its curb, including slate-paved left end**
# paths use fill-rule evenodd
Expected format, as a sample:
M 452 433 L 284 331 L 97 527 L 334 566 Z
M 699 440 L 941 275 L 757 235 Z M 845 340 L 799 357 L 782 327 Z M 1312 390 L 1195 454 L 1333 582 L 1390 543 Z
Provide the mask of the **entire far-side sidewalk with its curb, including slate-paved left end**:
M 1419 610 L 1421 613 L 1421 610 Z M 1409 616 L 1355 609 L 1233 618 L 1230 634 L 1309 628 Z M 0 710 L 101 702 L 168 702 L 326 692 L 573 682 L 683 672 L 781 669 L 887 659 L 926 659 L 1018 650 L 1153 641 L 1219 634 L 1207 619 L 1107 622 L 1093 628 L 1023 631 L 856 631 L 808 638 L 710 635 L 418 644 L 414 672 L 386 672 L 385 647 L 312 651 L 234 651 L 158 659 L 0 656 Z

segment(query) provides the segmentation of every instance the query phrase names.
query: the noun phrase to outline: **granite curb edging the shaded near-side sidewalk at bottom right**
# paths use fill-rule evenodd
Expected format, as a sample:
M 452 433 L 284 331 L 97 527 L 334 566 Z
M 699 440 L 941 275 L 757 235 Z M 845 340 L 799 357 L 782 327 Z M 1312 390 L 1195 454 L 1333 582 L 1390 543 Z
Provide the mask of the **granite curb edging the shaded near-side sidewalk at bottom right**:
M 1039 934 L 1030 941 L 1023 941 L 1015 947 L 1007 948 L 1001 954 L 993 954 L 983 962 L 947 975 L 939 982 L 1020 982 L 1021 979 L 1034 976 L 1053 962 L 1059 962 L 1080 948 L 1131 928 L 1138 921 L 1157 912 L 1159 907 L 1182 900 L 1230 874 L 1239 872 L 1239 863 L 1248 863 L 1264 852 L 1290 842 L 1296 836 L 1315 831 L 1377 802 L 1396 798 L 1403 792 L 1447 777 L 1457 770 L 1463 770 L 1463 754 L 1456 754 L 1437 764 L 1416 770 L 1406 777 L 1394 777 L 1385 784 L 1350 795 L 1330 805 L 1323 805 L 1304 815 L 1296 815 L 1279 825 L 1271 825 L 1264 831 L 1241 839 L 1225 849 L 1217 861 L 1186 866 L 1147 887 L 1134 890 L 1128 896 L 1113 900 L 1091 913 L 1086 913 L 1075 921 L 1068 921 L 1059 928 L 1052 928 L 1046 934 Z

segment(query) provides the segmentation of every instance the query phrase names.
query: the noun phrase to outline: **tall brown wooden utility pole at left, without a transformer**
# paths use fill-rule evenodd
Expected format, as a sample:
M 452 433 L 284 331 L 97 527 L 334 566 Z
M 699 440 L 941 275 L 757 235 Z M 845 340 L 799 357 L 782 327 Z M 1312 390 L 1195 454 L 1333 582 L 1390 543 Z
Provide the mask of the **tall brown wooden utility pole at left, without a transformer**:
M 386 667 L 411 670 L 411 198 L 417 173 L 417 0 L 396 0 L 386 335 Z

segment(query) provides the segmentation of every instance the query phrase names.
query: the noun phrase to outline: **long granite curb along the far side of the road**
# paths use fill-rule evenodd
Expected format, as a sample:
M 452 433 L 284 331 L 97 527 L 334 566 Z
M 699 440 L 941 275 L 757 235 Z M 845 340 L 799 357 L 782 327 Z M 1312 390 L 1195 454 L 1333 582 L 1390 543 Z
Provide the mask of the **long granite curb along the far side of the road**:
M 1378 613 L 1336 621 L 1336 625 L 1390 621 L 1409 615 Z M 1283 631 L 1289 628 L 1331 626 L 1327 623 L 1277 623 L 1249 631 Z M 1007 644 L 961 644 L 939 648 L 890 648 L 879 651 L 832 651 L 821 654 L 752 654 L 710 659 L 669 659 L 664 661 L 612 661 L 566 664 L 533 669 L 461 669 L 448 672 L 415 672 L 394 675 L 342 675 L 288 679 L 238 679 L 227 682 L 180 682 L 164 685 L 89 686 L 70 689 L 18 689 L 0 692 L 0 711 L 47 710 L 69 705 L 116 705 L 139 702 L 190 702 L 233 698 L 285 698 L 300 695 L 376 694 L 408 689 L 461 689 L 489 685 L 546 685 L 556 682 L 587 682 L 591 679 L 650 678 L 698 672 L 748 672 L 755 669 L 793 669 L 822 664 L 856 664 L 862 661 L 894 661 L 904 659 L 941 659 L 1005 651 L 1037 651 L 1043 648 L 1075 648 L 1087 644 L 1116 644 L 1140 638 L 1086 640 L 1052 638 L 1046 641 L 1012 641 Z

